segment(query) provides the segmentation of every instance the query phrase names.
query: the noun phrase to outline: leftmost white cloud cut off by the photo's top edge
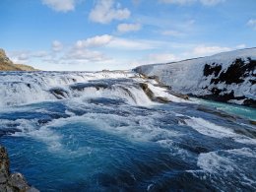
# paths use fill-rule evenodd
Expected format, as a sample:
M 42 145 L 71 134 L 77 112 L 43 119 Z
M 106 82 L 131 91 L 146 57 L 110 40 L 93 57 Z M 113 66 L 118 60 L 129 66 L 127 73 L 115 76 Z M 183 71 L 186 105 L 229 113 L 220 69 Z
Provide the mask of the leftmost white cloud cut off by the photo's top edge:
M 42 4 L 57 12 L 68 12 L 75 9 L 77 0 L 42 0 Z

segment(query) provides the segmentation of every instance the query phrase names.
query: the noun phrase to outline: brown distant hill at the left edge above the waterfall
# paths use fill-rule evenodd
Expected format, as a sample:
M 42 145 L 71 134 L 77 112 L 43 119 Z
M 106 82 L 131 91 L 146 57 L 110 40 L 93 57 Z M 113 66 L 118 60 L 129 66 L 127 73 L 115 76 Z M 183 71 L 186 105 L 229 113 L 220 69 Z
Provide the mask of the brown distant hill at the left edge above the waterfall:
M 0 48 L 0 71 L 39 71 L 32 66 L 14 64 L 6 55 L 5 50 Z

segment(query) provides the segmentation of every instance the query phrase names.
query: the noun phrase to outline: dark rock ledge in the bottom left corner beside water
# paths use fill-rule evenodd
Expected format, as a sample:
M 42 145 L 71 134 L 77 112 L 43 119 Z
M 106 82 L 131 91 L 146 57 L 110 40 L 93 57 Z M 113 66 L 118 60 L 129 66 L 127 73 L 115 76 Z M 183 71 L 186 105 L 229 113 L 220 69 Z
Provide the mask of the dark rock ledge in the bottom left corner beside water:
M 0 146 L 0 191 L 1 192 L 38 192 L 30 186 L 21 173 L 10 173 L 10 160 L 7 151 Z

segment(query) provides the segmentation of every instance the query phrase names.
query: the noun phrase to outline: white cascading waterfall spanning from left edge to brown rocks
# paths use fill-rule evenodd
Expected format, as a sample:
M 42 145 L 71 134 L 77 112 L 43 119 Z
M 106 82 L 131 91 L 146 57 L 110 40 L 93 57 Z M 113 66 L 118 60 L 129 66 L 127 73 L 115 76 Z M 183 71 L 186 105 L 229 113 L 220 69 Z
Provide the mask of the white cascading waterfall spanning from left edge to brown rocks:
M 34 72 L 0 75 L 0 106 L 74 97 L 109 97 L 129 104 L 153 105 L 139 83 L 145 80 L 131 72 Z M 147 82 L 155 96 L 171 101 L 185 101 L 171 96 L 163 88 Z

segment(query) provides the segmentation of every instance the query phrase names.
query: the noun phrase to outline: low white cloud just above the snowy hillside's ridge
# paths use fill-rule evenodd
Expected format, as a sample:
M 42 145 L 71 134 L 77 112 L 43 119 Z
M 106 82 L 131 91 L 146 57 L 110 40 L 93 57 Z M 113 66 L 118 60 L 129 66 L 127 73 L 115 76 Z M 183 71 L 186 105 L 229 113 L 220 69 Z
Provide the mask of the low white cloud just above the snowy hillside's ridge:
M 230 47 L 199 45 L 193 49 L 193 54 L 195 56 L 206 56 L 230 50 L 232 50 Z

